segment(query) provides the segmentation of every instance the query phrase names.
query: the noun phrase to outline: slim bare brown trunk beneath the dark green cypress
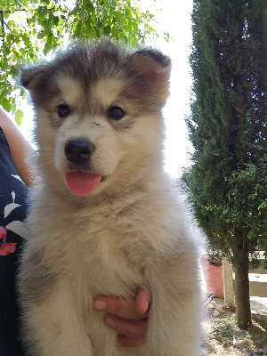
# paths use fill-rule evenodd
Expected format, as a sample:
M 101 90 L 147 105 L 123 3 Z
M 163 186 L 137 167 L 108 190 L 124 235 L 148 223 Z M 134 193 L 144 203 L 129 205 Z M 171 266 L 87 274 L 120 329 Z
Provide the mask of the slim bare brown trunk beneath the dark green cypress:
M 238 256 L 238 262 L 235 264 L 235 301 L 236 319 L 239 328 L 243 329 L 246 329 L 251 325 L 248 272 L 248 252 L 241 250 Z

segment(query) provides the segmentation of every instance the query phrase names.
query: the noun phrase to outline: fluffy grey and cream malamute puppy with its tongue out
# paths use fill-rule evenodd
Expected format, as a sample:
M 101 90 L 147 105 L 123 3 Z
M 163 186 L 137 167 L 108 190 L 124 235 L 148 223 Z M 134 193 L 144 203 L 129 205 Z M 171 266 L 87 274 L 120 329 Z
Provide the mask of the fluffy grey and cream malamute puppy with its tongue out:
M 29 355 L 200 354 L 198 243 L 163 169 L 170 67 L 158 51 L 102 40 L 22 70 L 42 178 L 20 268 Z M 141 285 L 147 342 L 117 346 L 92 299 Z

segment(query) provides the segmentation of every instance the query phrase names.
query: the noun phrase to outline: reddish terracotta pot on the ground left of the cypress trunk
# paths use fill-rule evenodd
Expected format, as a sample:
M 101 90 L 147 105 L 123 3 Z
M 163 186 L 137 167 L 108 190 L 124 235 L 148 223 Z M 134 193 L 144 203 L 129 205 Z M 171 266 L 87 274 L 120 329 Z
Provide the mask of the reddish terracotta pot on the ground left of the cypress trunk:
M 206 281 L 206 291 L 212 292 L 215 298 L 224 298 L 223 295 L 223 266 L 215 267 L 205 258 L 201 260 Z

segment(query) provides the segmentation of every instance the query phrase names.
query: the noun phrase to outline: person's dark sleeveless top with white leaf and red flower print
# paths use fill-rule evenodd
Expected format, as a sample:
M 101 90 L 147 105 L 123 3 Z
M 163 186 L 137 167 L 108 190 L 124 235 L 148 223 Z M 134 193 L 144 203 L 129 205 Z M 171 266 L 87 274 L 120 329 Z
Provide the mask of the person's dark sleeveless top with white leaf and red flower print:
M 16 291 L 28 188 L 20 180 L 0 127 L 0 356 L 22 356 Z

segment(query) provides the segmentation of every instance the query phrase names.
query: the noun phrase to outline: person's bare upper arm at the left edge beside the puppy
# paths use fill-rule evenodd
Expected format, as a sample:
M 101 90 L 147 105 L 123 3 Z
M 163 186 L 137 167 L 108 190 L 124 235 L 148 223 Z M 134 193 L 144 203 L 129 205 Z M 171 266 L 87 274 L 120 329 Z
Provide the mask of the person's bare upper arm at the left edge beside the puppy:
M 20 133 L 19 128 L 12 122 L 0 108 L 0 126 L 4 131 L 4 136 L 9 144 L 12 163 L 15 166 L 20 178 L 27 186 L 31 185 L 30 169 L 25 158 L 28 153 L 34 151 L 29 142 Z

